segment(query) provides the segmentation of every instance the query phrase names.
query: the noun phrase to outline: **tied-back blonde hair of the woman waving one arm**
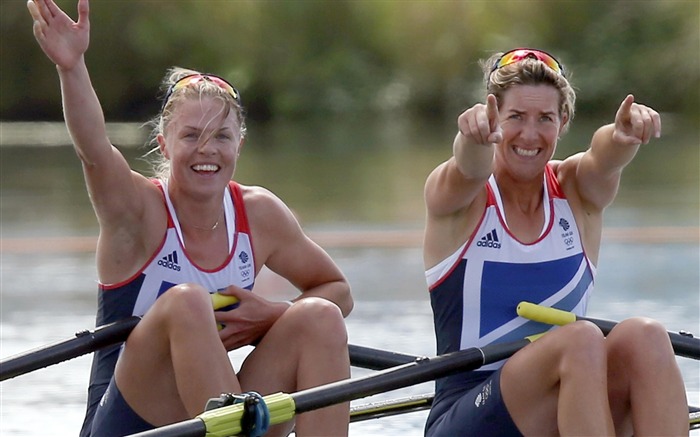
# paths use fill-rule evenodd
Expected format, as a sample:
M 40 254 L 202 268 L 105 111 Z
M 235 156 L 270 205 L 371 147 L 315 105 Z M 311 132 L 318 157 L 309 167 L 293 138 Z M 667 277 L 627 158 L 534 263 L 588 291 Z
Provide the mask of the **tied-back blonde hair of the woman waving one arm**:
M 201 99 L 202 97 L 213 97 L 221 100 L 224 104 L 223 115 L 226 117 L 231 111 L 235 112 L 240 126 L 241 139 L 245 138 L 247 131 L 245 110 L 241 105 L 240 99 L 234 98 L 229 92 L 215 82 L 200 80 L 192 85 L 172 90 L 173 85 L 179 80 L 197 74 L 204 73 L 181 67 L 171 67 L 161 81 L 160 87 L 164 100 L 160 113 L 147 123 L 147 125 L 151 127 L 151 134 L 147 143 L 147 147 L 150 147 L 150 150 L 144 155 L 150 162 L 154 176 L 157 178 L 167 179 L 170 174 L 170 161 L 168 161 L 160 151 L 157 140 L 158 135 L 165 133 L 168 124 L 173 118 L 177 105 L 184 100 L 193 98 Z

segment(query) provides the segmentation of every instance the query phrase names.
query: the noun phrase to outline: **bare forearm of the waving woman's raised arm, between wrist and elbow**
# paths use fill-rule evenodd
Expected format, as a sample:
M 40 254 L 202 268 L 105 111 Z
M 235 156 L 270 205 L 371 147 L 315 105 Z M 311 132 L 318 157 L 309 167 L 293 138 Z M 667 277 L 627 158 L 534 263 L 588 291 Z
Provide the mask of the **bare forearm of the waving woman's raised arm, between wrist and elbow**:
M 109 151 L 102 107 L 92 87 L 84 58 L 71 69 L 57 67 L 61 80 L 63 116 L 76 152 L 86 165 Z

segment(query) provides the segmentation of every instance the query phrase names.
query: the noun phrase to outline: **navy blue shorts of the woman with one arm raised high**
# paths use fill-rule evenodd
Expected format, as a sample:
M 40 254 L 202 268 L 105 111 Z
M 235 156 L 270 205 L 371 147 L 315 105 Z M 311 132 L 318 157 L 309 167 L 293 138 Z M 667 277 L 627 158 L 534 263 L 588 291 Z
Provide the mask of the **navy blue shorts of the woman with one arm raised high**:
M 91 437 L 122 437 L 154 428 L 126 403 L 112 377 L 95 411 Z

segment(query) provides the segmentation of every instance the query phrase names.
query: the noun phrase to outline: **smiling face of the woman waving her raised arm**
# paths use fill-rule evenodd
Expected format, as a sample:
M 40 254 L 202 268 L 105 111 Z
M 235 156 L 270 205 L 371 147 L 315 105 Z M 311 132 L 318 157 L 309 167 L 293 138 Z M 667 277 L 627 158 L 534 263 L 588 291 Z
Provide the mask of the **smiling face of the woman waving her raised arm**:
M 241 128 L 221 99 L 189 98 L 177 103 L 158 143 L 170 161 L 173 190 L 211 195 L 223 192 L 233 177 Z

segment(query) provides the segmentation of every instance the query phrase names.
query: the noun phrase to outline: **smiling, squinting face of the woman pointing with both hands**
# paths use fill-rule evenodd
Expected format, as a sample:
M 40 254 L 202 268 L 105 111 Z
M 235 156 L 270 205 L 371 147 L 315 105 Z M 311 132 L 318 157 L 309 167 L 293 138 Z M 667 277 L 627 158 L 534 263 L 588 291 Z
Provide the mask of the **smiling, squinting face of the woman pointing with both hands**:
M 503 93 L 499 107 L 503 141 L 497 167 L 516 178 L 539 176 L 554 156 L 566 120 L 559 114 L 560 94 L 550 85 L 516 85 Z

